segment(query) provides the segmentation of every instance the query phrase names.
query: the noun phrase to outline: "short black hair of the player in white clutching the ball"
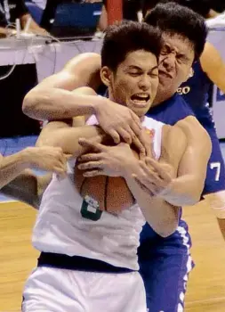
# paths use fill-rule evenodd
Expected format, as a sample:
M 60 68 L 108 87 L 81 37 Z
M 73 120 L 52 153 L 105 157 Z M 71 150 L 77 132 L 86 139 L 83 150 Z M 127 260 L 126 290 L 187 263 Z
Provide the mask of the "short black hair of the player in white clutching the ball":
M 159 57 L 162 49 L 162 32 L 137 21 L 120 21 L 106 29 L 101 48 L 101 66 L 117 70 L 127 53 L 145 50 Z

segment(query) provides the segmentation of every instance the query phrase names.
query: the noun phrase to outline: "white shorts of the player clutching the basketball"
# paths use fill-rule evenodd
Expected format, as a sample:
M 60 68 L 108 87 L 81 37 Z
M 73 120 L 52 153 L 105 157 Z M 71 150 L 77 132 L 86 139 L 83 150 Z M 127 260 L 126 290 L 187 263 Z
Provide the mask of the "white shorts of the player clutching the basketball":
M 37 267 L 23 292 L 23 312 L 146 312 L 138 272 L 92 273 Z

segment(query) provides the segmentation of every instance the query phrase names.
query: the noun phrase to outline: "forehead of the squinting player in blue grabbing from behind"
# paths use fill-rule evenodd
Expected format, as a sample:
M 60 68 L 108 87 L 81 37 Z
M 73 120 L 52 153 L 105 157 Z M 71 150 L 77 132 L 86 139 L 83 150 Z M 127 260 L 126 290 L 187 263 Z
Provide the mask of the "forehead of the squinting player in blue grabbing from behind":
M 184 53 L 184 54 L 193 54 L 194 53 L 194 46 L 189 41 L 188 38 L 182 37 L 181 35 L 171 35 L 164 33 L 164 45 L 171 48 L 177 53 Z

